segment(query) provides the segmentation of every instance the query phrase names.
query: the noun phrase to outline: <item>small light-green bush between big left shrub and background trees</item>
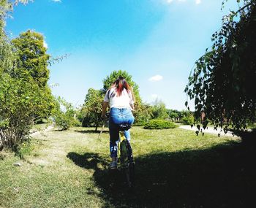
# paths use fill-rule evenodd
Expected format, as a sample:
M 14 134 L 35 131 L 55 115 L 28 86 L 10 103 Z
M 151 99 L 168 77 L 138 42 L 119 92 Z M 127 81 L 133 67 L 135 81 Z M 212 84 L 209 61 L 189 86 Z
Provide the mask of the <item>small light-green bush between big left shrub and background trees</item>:
M 53 118 L 61 131 L 69 129 L 71 126 L 77 126 L 78 120 L 75 118 L 75 109 L 71 103 L 58 97 L 56 99 Z

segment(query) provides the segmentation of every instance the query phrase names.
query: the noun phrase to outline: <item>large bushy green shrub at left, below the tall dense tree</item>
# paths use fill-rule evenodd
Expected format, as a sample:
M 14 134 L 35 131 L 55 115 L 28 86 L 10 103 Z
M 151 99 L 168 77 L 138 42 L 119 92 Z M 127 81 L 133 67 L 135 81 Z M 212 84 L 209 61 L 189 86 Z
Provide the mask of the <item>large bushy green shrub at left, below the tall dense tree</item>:
M 49 88 L 35 82 L 1 74 L 0 77 L 0 146 L 16 148 L 29 139 L 33 121 L 50 115 L 53 98 Z

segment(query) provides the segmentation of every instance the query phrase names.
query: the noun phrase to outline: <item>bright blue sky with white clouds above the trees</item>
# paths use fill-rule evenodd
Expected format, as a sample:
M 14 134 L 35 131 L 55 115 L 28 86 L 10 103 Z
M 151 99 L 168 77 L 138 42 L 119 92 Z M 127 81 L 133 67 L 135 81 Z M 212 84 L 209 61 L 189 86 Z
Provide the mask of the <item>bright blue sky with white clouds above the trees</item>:
M 79 107 L 89 88 L 101 89 L 114 70 L 125 70 L 143 101 L 185 109 L 189 72 L 211 47 L 222 16 L 235 0 L 34 0 L 15 7 L 7 20 L 11 38 L 31 29 L 45 37 L 52 57 L 53 94 Z M 193 107 L 193 101 L 189 102 Z

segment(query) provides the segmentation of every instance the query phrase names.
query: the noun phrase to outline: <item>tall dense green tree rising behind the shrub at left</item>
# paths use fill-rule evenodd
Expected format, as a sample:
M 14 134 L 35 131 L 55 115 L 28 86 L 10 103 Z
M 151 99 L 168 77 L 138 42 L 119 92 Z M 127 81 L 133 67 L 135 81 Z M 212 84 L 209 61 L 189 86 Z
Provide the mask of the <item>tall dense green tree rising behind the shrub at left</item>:
M 45 87 L 49 79 L 47 69 L 50 55 L 46 53 L 42 34 L 34 31 L 26 31 L 18 38 L 12 39 L 16 48 L 17 68 L 13 76 L 34 79 L 40 87 Z

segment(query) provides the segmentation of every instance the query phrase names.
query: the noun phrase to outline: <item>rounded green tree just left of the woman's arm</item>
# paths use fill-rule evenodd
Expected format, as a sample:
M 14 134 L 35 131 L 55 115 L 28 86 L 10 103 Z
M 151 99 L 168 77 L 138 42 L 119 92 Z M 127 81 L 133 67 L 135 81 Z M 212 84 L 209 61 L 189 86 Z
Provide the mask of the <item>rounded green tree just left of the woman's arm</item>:
M 95 131 L 101 123 L 102 101 L 104 95 L 101 90 L 89 88 L 81 112 L 83 113 L 82 126 L 95 126 Z

